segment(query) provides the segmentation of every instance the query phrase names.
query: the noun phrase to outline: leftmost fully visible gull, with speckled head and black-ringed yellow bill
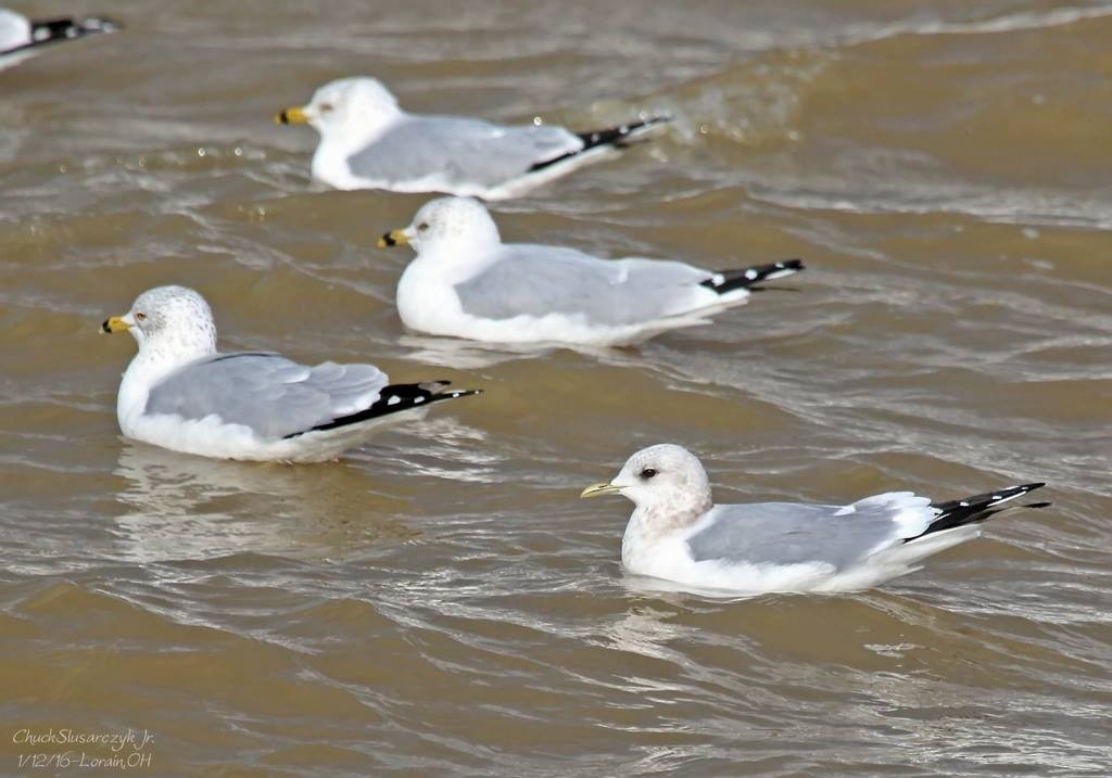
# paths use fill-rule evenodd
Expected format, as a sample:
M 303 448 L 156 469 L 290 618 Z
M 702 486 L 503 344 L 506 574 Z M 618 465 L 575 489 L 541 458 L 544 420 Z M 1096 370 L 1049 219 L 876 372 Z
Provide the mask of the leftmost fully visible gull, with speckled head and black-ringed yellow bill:
M 335 459 L 381 425 L 478 393 L 448 381 L 389 383 L 374 365 L 316 367 L 277 353 L 220 353 L 208 302 L 192 289 L 140 295 L 105 332 L 139 343 L 120 382 L 116 415 L 129 438 L 221 459 Z

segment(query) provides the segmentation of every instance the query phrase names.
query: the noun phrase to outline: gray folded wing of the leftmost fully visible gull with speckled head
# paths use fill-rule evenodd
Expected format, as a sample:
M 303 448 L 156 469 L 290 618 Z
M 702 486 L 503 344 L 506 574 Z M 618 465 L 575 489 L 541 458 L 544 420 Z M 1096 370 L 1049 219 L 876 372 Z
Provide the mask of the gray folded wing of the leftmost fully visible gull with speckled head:
M 276 353 L 228 353 L 167 376 L 151 389 L 146 412 L 216 415 L 261 438 L 282 438 L 367 408 L 386 383 L 373 365 L 308 367 Z

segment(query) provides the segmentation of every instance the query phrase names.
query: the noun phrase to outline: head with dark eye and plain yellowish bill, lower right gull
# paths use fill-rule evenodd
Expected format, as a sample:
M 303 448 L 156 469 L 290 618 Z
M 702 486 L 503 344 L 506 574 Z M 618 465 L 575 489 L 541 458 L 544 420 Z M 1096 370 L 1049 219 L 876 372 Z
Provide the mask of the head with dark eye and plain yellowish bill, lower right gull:
M 622 495 L 651 520 L 668 525 L 693 521 L 714 506 L 703 463 L 673 443 L 637 451 L 614 480 L 589 486 L 580 497 L 599 495 Z

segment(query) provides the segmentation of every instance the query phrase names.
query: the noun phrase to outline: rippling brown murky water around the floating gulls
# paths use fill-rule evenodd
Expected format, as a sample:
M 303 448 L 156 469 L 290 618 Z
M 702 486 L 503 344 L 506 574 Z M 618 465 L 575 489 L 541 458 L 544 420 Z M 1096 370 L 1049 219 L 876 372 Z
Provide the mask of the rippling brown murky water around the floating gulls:
M 128 30 L 0 74 L 0 774 L 1109 774 L 1112 4 L 85 10 Z M 426 198 L 310 187 L 315 133 L 269 123 L 361 72 L 417 110 L 676 117 L 498 205 L 507 239 L 812 269 L 635 350 L 407 335 L 373 241 Z M 133 346 L 96 329 L 166 282 L 226 348 L 487 393 L 339 463 L 128 442 Z M 1055 505 L 874 592 L 646 594 L 629 506 L 576 496 L 663 440 L 723 501 Z

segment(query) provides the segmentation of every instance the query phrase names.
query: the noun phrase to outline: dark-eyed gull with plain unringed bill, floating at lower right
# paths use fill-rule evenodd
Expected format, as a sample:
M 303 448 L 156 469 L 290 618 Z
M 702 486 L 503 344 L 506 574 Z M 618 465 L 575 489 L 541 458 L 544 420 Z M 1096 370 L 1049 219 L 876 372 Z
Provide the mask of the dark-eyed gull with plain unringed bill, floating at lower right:
M 685 448 L 662 443 L 633 455 L 614 480 L 587 487 L 582 497 L 633 501 L 622 539 L 622 563 L 631 572 L 698 590 L 761 595 L 855 591 L 917 570 L 926 557 L 980 536 L 980 522 L 1000 506 L 1041 486 L 950 502 L 893 491 L 847 506 L 715 505 L 703 463 Z

